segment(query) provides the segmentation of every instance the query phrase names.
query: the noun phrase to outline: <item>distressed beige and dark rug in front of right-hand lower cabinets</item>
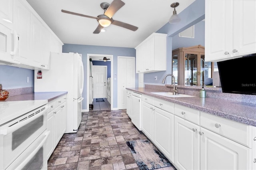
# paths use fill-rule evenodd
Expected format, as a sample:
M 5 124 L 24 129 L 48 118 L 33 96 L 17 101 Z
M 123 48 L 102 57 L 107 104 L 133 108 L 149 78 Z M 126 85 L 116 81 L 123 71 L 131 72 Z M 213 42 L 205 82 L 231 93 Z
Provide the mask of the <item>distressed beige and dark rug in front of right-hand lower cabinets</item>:
M 126 144 L 130 148 L 132 156 L 140 170 L 152 170 L 166 166 L 172 166 L 172 168 L 176 170 L 164 154 L 162 154 L 150 140 L 131 140 L 127 141 Z

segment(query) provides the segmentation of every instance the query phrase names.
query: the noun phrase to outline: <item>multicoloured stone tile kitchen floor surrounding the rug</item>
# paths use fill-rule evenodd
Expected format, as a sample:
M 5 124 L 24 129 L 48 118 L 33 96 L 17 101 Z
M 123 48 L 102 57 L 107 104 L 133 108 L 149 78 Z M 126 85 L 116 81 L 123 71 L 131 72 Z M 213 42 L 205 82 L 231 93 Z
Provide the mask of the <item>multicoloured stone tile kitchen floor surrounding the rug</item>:
M 78 132 L 60 139 L 48 170 L 139 170 L 126 141 L 145 138 L 126 110 L 84 112 Z

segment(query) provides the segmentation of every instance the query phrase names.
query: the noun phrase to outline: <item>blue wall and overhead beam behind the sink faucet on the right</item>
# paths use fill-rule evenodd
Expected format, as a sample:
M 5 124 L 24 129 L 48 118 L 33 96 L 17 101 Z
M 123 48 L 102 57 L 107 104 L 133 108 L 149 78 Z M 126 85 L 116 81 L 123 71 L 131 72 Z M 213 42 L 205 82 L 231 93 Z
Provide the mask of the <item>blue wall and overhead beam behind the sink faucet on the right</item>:
M 172 41 L 172 38 L 178 33 L 186 30 L 187 28 L 197 24 L 198 22 L 204 19 L 204 9 L 205 1 L 196 0 L 178 15 L 181 18 L 181 21 L 176 24 L 165 24 L 157 32 L 167 34 L 166 38 L 166 71 L 160 71 L 155 73 L 146 73 L 144 74 L 144 83 L 161 83 L 164 75 L 172 73 L 172 44 L 175 43 Z M 154 80 L 154 77 L 157 76 L 158 80 Z M 172 80 L 170 78 L 166 79 L 166 84 L 171 84 Z

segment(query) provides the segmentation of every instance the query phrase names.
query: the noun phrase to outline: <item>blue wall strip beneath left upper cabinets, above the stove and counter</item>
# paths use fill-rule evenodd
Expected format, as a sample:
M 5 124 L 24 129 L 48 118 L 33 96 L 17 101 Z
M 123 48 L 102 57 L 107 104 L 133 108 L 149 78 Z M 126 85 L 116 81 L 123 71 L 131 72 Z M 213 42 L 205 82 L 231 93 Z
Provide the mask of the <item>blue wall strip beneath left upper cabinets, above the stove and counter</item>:
M 29 83 L 27 83 L 27 76 Z M 34 89 L 34 70 L 0 65 L 0 84 L 3 89 L 18 89 L 33 87 Z

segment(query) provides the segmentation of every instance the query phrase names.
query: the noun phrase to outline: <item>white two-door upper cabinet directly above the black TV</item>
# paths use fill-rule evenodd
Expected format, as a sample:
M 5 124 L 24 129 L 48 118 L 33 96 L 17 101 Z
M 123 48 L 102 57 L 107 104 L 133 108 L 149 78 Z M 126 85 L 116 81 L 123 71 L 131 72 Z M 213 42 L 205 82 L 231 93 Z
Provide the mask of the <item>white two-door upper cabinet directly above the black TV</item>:
M 256 1 L 205 1 L 205 61 L 256 53 Z

